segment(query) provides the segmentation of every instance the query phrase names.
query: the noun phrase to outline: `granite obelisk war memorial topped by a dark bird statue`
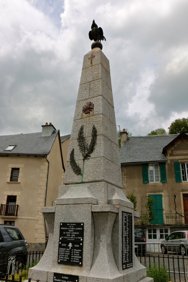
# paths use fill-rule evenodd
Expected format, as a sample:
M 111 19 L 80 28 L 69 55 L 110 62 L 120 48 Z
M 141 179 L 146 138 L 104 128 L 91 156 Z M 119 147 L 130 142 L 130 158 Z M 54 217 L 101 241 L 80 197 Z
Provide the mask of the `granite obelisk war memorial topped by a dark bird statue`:
M 43 207 L 49 240 L 32 280 L 152 282 L 134 254 L 139 213 L 123 190 L 109 60 L 93 21 L 83 59 L 64 177 L 53 207 Z

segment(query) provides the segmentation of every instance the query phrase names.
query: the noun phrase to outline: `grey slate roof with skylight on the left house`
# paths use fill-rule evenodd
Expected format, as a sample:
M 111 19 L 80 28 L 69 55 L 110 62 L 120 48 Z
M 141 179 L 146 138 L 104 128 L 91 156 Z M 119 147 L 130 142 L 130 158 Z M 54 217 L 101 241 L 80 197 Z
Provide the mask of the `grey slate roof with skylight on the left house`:
M 42 132 L 0 136 L 0 154 L 48 155 L 59 130 L 51 136 L 41 137 Z M 8 146 L 16 145 L 12 151 L 4 151 Z

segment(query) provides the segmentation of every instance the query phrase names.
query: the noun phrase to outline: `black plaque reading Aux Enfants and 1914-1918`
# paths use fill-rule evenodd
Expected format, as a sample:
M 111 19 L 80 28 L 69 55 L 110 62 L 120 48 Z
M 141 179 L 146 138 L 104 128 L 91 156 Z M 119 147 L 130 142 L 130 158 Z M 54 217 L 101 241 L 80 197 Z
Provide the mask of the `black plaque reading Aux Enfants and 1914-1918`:
M 60 223 L 59 240 L 83 242 L 84 223 Z

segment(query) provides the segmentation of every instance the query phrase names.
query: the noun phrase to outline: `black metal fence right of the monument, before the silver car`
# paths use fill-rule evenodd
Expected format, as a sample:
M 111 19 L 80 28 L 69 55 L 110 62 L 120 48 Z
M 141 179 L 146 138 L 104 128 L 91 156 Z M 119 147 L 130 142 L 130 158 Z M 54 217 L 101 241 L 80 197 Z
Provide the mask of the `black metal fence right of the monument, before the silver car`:
M 163 266 L 169 280 L 188 281 L 188 243 L 135 243 L 135 254 L 148 270 Z

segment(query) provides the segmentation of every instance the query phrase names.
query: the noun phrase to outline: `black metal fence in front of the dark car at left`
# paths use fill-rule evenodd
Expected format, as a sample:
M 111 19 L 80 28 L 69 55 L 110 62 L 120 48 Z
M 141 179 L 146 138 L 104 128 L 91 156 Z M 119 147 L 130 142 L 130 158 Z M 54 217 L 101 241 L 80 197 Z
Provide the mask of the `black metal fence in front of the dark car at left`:
M 26 270 L 36 265 L 43 256 L 43 253 L 43 251 L 15 252 L 12 254 L 0 253 L 0 273 L 2 273 L 2 277 L 5 277 L 7 273 L 18 274 L 23 269 Z

